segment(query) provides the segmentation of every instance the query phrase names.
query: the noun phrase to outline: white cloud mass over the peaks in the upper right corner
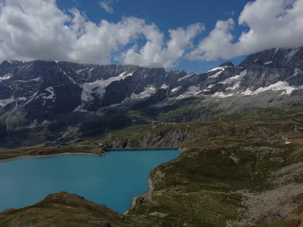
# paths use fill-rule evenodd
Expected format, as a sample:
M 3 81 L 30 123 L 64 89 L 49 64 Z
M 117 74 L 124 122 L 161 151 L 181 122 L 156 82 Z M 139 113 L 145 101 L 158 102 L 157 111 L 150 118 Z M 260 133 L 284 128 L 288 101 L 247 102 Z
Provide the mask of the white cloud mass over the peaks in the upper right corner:
M 238 19 L 248 26 L 233 43 L 234 21 L 218 21 L 215 29 L 197 48 L 187 54 L 190 60 L 212 61 L 219 58 L 255 53 L 274 47 L 303 46 L 303 0 L 256 0 L 248 3 Z

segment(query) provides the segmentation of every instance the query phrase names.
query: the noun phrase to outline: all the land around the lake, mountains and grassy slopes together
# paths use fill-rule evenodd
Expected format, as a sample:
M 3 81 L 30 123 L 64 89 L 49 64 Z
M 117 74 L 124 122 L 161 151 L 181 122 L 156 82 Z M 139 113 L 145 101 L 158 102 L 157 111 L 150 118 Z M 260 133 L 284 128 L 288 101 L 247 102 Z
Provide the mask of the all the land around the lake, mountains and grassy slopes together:
M 124 214 L 63 191 L 5 210 L 0 226 L 301 227 L 302 98 L 303 47 L 199 75 L 4 61 L 0 159 L 106 154 L 99 143 L 181 154 L 150 172 L 150 192 Z

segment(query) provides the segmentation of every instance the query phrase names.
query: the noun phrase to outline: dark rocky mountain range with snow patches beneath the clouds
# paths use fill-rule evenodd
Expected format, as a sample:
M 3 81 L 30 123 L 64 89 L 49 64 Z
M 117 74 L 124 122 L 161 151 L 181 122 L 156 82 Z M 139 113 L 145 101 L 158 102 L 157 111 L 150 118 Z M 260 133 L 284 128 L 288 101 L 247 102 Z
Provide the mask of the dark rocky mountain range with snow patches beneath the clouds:
M 153 121 L 181 123 L 293 103 L 303 48 L 251 54 L 202 74 L 55 61 L 0 65 L 0 146 L 98 138 Z M 298 102 L 297 105 L 300 103 Z

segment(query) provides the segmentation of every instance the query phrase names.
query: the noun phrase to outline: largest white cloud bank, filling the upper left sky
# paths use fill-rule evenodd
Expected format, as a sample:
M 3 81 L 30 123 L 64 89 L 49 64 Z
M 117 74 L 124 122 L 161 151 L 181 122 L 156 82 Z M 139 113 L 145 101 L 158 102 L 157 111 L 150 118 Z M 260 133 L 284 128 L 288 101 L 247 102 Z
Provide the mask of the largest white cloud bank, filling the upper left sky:
M 55 0 L 7 0 L 0 13 L 0 49 L 6 59 L 105 64 L 111 51 L 144 26 L 132 17 L 95 24 L 77 9 L 63 13 Z

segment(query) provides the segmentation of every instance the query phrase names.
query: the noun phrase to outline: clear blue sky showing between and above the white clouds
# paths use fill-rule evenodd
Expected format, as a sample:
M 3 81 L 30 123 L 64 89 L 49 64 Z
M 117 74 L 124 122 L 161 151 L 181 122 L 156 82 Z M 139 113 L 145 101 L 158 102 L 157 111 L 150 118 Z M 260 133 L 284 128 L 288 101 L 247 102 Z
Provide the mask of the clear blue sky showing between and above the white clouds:
M 87 3 L 89 2 L 89 4 Z M 196 37 L 195 42 L 203 39 L 214 29 L 217 20 L 226 20 L 230 17 L 237 20 L 248 0 L 214 0 L 214 1 L 196 1 L 196 0 L 120 0 L 111 4 L 114 13 L 108 13 L 99 6 L 98 0 L 60 0 L 58 7 L 68 11 L 73 7 L 84 11 L 88 19 L 94 23 L 99 23 L 105 19 L 109 22 L 117 23 L 122 16 L 134 16 L 142 18 L 147 24 L 155 23 L 159 29 L 169 37 L 168 30 L 178 27 L 186 27 L 196 22 L 204 23 L 206 30 Z M 232 14 L 233 12 L 233 14 Z M 241 35 L 244 26 L 236 26 L 233 35 L 235 40 Z M 140 44 L 144 44 L 142 39 Z M 218 61 L 188 61 L 182 59 L 173 69 L 184 70 L 186 72 L 203 73 L 213 69 L 224 62 L 231 61 L 238 65 L 247 55 L 242 55 L 230 60 Z M 113 61 L 114 64 L 120 64 Z

